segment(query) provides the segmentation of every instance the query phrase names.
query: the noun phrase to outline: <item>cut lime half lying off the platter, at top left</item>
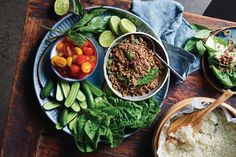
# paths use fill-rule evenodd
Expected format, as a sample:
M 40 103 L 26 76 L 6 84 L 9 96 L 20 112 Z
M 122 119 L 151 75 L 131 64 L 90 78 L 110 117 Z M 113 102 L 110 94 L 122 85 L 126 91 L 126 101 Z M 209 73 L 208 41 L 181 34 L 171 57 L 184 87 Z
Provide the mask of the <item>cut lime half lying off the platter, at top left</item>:
M 57 15 L 65 15 L 70 7 L 69 0 L 56 0 L 54 3 L 54 11 Z

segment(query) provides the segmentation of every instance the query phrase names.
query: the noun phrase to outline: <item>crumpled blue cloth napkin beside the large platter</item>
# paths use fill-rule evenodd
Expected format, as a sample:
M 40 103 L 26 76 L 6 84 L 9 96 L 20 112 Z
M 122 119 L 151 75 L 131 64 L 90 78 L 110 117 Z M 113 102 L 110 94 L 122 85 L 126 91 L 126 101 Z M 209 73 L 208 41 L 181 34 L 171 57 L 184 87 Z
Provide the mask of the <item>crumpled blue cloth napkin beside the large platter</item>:
M 193 31 L 183 18 L 184 7 L 174 0 L 133 0 L 132 12 L 154 29 L 167 50 L 170 66 L 184 79 L 199 69 L 199 59 L 182 49 L 193 37 Z

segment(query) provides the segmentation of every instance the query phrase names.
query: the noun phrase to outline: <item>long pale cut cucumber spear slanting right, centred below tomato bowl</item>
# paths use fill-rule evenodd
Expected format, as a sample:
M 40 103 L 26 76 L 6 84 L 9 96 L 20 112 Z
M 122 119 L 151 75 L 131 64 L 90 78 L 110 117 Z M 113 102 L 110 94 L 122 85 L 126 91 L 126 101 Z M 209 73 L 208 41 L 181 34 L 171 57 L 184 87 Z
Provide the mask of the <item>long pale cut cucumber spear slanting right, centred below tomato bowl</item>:
M 78 95 L 79 92 L 79 87 L 80 87 L 79 82 L 74 82 L 71 85 L 70 93 L 65 101 L 66 107 L 70 107 L 75 102 L 76 96 Z

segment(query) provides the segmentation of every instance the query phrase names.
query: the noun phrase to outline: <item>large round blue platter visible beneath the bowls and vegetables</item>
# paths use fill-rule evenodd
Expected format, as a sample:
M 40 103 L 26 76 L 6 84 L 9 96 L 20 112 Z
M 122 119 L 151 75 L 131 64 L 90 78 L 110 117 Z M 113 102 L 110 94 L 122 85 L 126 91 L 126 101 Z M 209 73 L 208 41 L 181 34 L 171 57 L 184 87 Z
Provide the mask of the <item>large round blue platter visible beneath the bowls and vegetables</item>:
M 88 9 L 92 10 L 96 8 L 98 7 L 91 7 Z M 157 35 L 154 33 L 151 27 L 142 19 L 137 17 L 136 15 L 128 11 L 119 9 L 119 8 L 114 8 L 114 7 L 103 7 L 103 8 L 108 9 L 107 14 L 109 15 L 117 15 L 120 17 L 126 17 L 130 19 L 137 26 L 137 31 L 148 33 L 160 41 L 160 39 L 157 37 Z M 78 20 L 79 20 L 78 16 L 74 14 L 69 14 L 65 16 L 64 18 L 62 18 L 59 22 L 57 22 L 53 26 L 53 29 L 65 31 L 68 28 L 70 28 Z M 50 63 L 49 53 L 53 44 L 56 42 L 55 37 L 58 37 L 58 36 L 61 36 L 61 34 L 57 32 L 48 32 L 43 38 L 35 57 L 35 62 L 34 62 L 34 67 L 33 67 L 33 81 L 34 81 L 34 88 L 35 88 L 36 96 L 38 98 L 38 101 L 41 107 L 47 101 L 50 101 L 50 98 L 42 99 L 40 97 L 40 92 L 42 91 L 43 86 L 45 86 L 46 82 L 48 81 L 50 77 L 57 77 L 53 73 L 51 65 L 49 64 Z M 104 52 L 106 51 L 106 49 L 103 49 L 95 39 L 91 39 L 91 40 L 93 40 L 93 43 L 96 45 L 96 48 L 98 49 L 99 61 L 98 61 L 96 70 L 88 78 L 88 80 L 94 83 L 96 86 L 101 87 L 104 85 L 104 75 L 101 71 L 102 71 L 102 64 L 103 64 L 103 59 L 104 59 Z M 169 63 L 168 58 L 167 58 L 167 63 Z M 169 75 L 169 72 L 168 72 L 168 75 Z M 166 81 L 165 85 L 155 95 L 156 100 L 162 101 L 166 97 L 168 88 L 169 88 L 169 81 L 170 81 L 170 78 L 168 77 L 168 80 Z M 51 95 L 53 95 L 52 93 Z M 57 123 L 58 110 L 45 111 L 45 113 L 54 124 Z M 71 134 L 70 130 L 67 127 L 63 128 L 63 130 L 67 132 L 68 134 Z M 132 133 L 133 131 L 131 133 L 130 132 L 126 133 L 125 136 L 127 137 L 131 135 Z

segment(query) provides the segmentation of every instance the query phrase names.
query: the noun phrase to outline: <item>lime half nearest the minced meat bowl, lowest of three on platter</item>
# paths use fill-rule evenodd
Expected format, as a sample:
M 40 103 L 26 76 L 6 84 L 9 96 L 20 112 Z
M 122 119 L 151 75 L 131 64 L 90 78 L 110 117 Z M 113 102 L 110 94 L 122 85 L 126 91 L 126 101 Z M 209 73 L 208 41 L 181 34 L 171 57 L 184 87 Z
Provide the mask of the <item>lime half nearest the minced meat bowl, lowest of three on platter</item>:
M 102 34 L 99 36 L 99 43 L 102 45 L 102 47 L 109 47 L 114 40 L 115 36 L 109 30 L 102 32 Z

